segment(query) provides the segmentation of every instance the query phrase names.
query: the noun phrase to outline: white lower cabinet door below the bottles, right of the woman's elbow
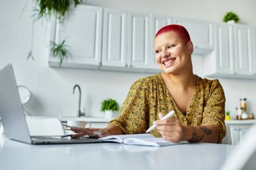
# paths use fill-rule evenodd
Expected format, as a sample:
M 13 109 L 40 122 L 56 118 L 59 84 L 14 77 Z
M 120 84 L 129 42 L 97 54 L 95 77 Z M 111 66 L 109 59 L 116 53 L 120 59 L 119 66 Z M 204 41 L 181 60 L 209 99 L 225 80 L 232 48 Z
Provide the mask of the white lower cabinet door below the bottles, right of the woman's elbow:
M 249 132 L 249 128 L 252 125 L 230 125 L 230 134 L 232 144 L 241 144 L 241 140 L 245 133 Z

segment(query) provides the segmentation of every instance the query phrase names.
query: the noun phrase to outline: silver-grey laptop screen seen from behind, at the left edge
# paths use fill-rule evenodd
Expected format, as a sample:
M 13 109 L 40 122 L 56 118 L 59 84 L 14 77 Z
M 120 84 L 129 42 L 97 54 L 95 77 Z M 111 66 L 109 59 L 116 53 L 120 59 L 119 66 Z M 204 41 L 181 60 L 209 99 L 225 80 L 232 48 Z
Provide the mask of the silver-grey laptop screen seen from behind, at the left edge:
M 26 118 L 11 64 L 0 71 L 0 116 L 5 136 L 31 143 Z

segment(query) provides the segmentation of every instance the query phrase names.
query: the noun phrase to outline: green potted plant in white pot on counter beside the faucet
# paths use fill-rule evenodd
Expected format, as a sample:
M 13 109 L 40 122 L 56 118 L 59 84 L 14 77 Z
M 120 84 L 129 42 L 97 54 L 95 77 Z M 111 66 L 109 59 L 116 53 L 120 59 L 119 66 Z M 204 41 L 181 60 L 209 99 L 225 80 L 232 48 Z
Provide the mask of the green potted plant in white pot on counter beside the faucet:
M 105 118 L 113 118 L 114 112 L 119 110 L 119 104 L 114 99 L 104 99 L 101 103 L 101 111 Z

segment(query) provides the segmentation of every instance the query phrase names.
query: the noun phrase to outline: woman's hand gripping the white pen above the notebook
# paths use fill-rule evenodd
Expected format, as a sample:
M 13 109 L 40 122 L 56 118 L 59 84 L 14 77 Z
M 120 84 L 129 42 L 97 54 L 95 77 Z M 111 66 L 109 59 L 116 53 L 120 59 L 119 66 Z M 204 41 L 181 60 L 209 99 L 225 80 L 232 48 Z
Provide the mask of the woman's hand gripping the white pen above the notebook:
M 159 114 L 159 118 L 162 117 L 162 114 Z M 164 120 L 157 120 L 156 125 L 156 128 L 165 140 L 171 142 L 186 140 L 186 128 L 181 125 L 181 122 L 178 119 L 168 118 Z

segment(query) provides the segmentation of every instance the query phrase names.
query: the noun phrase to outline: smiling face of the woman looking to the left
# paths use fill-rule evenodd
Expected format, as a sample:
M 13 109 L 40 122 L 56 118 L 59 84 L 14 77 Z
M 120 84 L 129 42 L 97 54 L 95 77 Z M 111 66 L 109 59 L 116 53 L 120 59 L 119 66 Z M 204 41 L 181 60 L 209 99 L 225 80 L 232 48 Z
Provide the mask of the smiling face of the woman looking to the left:
M 165 32 L 155 39 L 155 59 L 165 73 L 177 74 L 187 69 L 192 52 L 192 42 L 185 44 L 176 32 Z

